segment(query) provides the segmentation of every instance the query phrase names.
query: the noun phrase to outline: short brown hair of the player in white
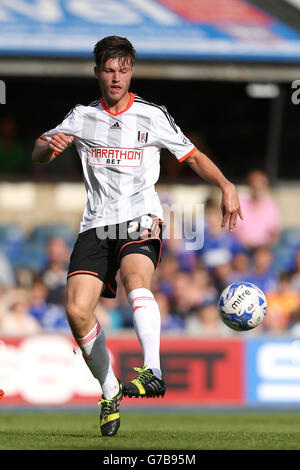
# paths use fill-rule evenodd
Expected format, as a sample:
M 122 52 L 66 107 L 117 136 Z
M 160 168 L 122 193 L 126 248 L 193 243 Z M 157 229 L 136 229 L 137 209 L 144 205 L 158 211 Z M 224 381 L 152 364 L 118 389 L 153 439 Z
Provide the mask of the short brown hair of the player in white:
M 135 63 L 135 49 L 127 38 L 107 36 L 95 44 L 94 59 L 97 67 L 102 67 L 108 59 L 119 58 Z

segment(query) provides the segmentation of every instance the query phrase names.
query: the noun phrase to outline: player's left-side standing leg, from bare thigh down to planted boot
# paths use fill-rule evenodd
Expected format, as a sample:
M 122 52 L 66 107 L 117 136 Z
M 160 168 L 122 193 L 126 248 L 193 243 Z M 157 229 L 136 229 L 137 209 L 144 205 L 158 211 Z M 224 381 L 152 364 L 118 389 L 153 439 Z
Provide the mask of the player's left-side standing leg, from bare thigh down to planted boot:
M 103 391 L 100 428 L 113 436 L 120 426 L 119 406 L 122 390 L 106 347 L 105 334 L 95 317 L 103 283 L 95 276 L 77 274 L 67 283 L 67 317 L 82 356 Z

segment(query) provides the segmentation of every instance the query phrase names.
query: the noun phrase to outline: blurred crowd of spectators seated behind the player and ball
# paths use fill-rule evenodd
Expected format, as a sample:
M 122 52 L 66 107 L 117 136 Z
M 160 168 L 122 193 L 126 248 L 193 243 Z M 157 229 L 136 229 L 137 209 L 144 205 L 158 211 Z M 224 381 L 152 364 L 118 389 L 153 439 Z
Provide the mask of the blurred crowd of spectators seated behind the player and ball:
M 282 228 L 262 171 L 249 173 L 247 189 L 240 197 L 244 221 L 238 222 L 235 232 L 221 229 L 219 203 L 209 198 L 201 249 L 187 250 L 184 239 L 164 239 L 162 261 L 152 286 L 163 335 L 240 334 L 222 323 L 217 309 L 222 290 L 236 281 L 255 283 L 267 297 L 266 319 L 250 334 L 300 335 L 300 229 Z M 42 269 L 29 267 L 26 259 L 22 264 L 22 257 L 14 263 L 16 245 L 11 251 L 0 250 L 2 336 L 70 333 L 65 287 L 73 241 L 61 234 L 44 240 Z M 39 243 L 31 241 L 35 248 Z M 99 299 L 96 315 L 109 332 L 133 328 L 132 311 L 120 282 L 116 299 Z

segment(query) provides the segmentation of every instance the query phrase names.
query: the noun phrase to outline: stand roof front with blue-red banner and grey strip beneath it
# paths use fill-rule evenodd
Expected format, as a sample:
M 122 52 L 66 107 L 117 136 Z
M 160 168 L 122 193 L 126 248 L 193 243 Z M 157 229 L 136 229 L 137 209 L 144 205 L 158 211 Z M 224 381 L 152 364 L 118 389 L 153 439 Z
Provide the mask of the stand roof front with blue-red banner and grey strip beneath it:
M 298 78 L 295 2 L 0 0 L 0 73 L 89 76 L 94 44 L 117 34 L 137 50 L 136 76 Z

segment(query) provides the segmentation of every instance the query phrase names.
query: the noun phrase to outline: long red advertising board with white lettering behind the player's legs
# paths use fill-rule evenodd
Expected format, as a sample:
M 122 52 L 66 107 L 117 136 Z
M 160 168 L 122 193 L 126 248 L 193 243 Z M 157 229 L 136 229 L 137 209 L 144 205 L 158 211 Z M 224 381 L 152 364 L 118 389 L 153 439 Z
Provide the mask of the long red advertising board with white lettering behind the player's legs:
M 132 380 L 135 374 L 132 368 L 143 366 L 135 336 L 107 339 L 107 346 L 116 375 L 122 382 Z M 240 340 L 162 338 L 165 398 L 124 398 L 122 405 L 241 405 L 245 402 L 243 350 Z M 101 397 L 98 381 L 87 368 L 76 343 L 64 335 L 2 340 L 0 388 L 5 393 L 1 407 L 96 405 Z

